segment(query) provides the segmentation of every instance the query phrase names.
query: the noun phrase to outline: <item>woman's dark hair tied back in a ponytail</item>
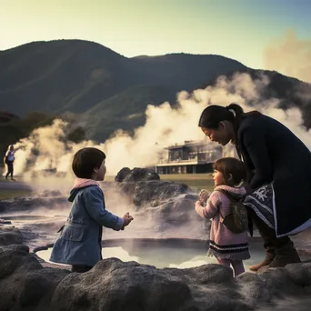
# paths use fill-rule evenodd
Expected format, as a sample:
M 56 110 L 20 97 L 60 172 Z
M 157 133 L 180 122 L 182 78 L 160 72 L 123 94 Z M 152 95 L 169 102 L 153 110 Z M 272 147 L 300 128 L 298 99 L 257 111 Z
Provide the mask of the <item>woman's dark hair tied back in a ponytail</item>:
M 241 121 L 250 115 L 261 115 L 259 111 L 251 111 L 245 113 L 243 108 L 240 105 L 232 103 L 226 107 L 222 105 L 209 105 L 206 109 L 203 110 L 199 126 L 206 127 L 210 129 L 218 128 L 218 125 L 222 121 L 229 121 L 233 124 L 235 133 L 237 133 L 238 127 L 241 124 Z

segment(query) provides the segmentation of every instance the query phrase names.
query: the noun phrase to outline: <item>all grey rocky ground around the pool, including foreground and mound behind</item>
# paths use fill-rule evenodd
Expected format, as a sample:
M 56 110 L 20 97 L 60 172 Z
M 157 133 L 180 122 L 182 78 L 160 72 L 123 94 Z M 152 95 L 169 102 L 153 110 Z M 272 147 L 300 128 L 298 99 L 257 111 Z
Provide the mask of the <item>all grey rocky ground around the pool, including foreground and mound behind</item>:
M 118 176 L 117 182 L 122 184 L 127 178 L 131 183 L 119 187 L 132 194 L 135 221 L 139 217 L 142 217 L 141 222 L 144 217 L 162 220 L 156 221 L 158 226 L 149 228 L 150 235 L 157 233 L 154 237 L 164 237 L 178 233 L 179 236 L 184 232 L 184 236 L 179 237 L 206 236 L 207 225 L 196 227 L 193 232 L 186 227 L 188 222 L 196 221 L 193 209 L 187 207 L 195 196 L 186 186 L 170 185 L 162 200 L 157 201 L 156 192 L 152 190 L 155 185 L 151 185 L 162 182 L 156 176 L 136 171 L 133 176 L 138 176 L 137 180 L 128 176 L 128 170 L 125 173 L 125 176 Z M 150 177 L 152 183 L 139 181 L 140 176 L 145 178 L 144 175 Z M 148 186 L 145 192 L 144 187 Z M 65 198 L 58 196 L 36 199 L 39 201 L 33 198 L 0 202 L 0 218 L 12 211 L 18 212 L 21 206 L 32 213 L 37 206 L 47 211 L 51 206 L 56 209 L 65 203 Z M 153 202 L 152 206 L 146 205 L 148 200 Z M 29 246 L 34 247 L 42 238 L 48 239 L 44 233 L 55 232 L 62 222 L 62 217 L 58 221 L 54 217 L 53 222 L 46 218 L 31 227 L 20 226 L 19 230 L 4 219 L 0 225 L 0 311 L 310 310 L 311 263 L 263 269 L 257 274 L 246 272 L 236 278 L 230 268 L 214 264 L 158 269 L 109 258 L 85 274 L 47 265 L 29 252 Z M 135 226 L 133 228 L 134 234 Z M 146 227 L 141 226 L 136 235 L 142 236 L 144 230 Z M 129 233 L 131 231 L 125 232 Z M 300 242 L 301 251 L 308 252 L 310 233 L 306 232 L 296 240 L 303 241 Z

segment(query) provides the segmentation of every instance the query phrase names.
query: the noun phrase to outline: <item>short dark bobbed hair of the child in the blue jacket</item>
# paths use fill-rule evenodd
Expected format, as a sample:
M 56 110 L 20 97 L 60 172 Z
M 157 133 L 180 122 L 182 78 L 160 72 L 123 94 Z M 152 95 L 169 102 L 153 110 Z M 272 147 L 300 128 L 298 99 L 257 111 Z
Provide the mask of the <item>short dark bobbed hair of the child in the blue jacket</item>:
M 105 160 L 103 151 L 87 147 L 75 153 L 73 160 L 73 171 L 78 178 L 89 179 L 94 174 L 94 169 L 99 168 Z

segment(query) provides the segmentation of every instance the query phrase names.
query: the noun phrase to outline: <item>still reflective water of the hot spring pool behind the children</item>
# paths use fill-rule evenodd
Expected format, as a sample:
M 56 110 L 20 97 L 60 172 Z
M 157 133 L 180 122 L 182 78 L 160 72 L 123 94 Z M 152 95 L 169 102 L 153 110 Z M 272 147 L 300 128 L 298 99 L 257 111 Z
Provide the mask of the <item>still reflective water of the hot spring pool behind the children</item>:
M 52 248 L 36 252 L 48 262 Z M 116 257 L 122 261 L 136 261 L 140 264 L 163 267 L 189 268 L 216 264 L 215 257 L 207 257 L 206 243 L 182 239 L 124 239 L 103 242 L 103 258 Z M 245 261 L 246 269 L 260 262 L 265 251 L 260 243 L 251 243 L 251 258 Z

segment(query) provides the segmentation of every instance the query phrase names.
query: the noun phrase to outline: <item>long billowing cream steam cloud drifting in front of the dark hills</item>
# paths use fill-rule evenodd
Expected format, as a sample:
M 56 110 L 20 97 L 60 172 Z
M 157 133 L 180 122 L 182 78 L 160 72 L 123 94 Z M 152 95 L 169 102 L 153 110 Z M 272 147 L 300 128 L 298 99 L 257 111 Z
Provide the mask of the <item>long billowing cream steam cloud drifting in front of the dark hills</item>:
M 169 103 L 148 105 L 145 111 L 146 123 L 137 128 L 133 136 L 119 130 L 105 144 L 95 144 L 92 141 L 81 144 L 67 142 L 65 132 L 68 125 L 64 121 L 55 120 L 53 125 L 35 129 L 29 137 L 15 144 L 16 147 L 22 147 L 15 154 L 15 173 L 32 176 L 34 172 L 55 169 L 58 173 L 69 173 L 65 178 L 72 181 L 72 157 L 78 149 L 85 146 L 95 146 L 105 152 L 107 175 L 110 176 L 124 166 L 133 168 L 156 164 L 164 146 L 204 138 L 197 123 L 206 105 L 228 105 L 236 102 L 245 111 L 249 111 L 250 107 L 246 104 L 250 100 L 257 103 L 252 110 L 255 108 L 276 118 L 310 148 L 311 133 L 302 127 L 299 109 L 283 111 L 277 108 L 276 98 L 265 102 L 260 99 L 260 93 L 268 82 L 265 75 L 255 81 L 247 74 L 235 75 L 232 80 L 221 76 L 216 86 L 198 89 L 193 94 L 179 93 L 179 105 L 176 109 Z M 32 152 L 34 148 L 38 151 L 37 154 Z

